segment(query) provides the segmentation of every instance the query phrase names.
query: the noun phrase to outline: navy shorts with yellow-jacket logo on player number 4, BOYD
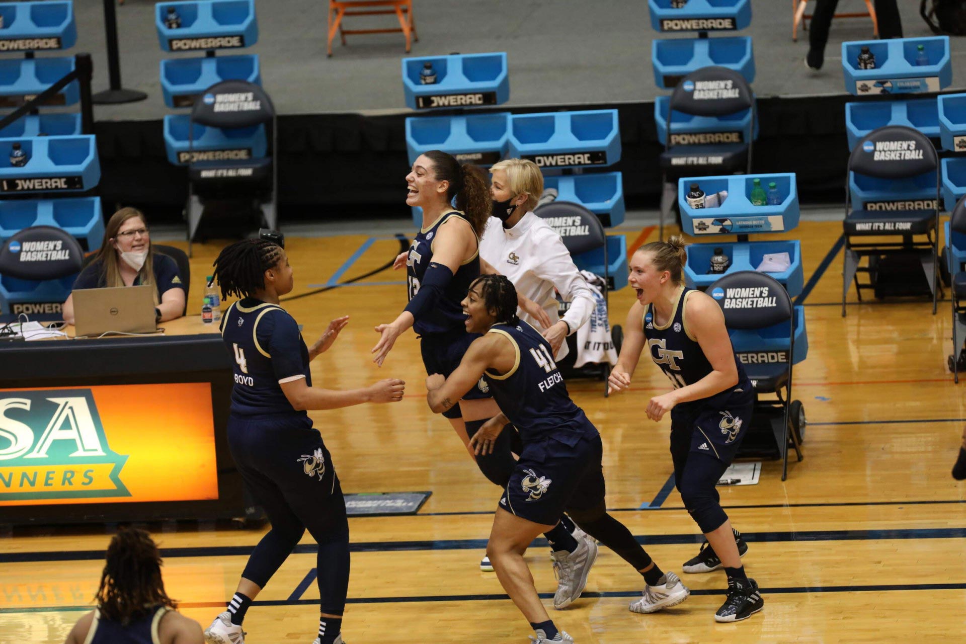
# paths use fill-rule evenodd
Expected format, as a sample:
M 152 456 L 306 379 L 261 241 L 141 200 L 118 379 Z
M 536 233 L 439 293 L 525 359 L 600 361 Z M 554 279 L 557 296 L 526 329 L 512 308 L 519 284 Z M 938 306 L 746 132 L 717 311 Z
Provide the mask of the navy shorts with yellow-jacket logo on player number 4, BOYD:
M 298 520 L 320 543 L 348 539 L 339 477 L 311 419 L 231 415 L 228 445 L 245 485 L 272 524 Z

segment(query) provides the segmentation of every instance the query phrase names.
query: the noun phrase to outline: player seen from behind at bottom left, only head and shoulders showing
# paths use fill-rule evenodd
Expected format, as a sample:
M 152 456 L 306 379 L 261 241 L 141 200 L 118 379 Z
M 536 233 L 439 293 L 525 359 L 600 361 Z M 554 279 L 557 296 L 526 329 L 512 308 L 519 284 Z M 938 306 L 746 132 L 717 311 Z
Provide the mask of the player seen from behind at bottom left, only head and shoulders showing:
M 201 627 L 164 592 L 161 555 L 144 530 L 120 530 L 107 546 L 98 607 L 73 625 L 67 644 L 202 644 Z

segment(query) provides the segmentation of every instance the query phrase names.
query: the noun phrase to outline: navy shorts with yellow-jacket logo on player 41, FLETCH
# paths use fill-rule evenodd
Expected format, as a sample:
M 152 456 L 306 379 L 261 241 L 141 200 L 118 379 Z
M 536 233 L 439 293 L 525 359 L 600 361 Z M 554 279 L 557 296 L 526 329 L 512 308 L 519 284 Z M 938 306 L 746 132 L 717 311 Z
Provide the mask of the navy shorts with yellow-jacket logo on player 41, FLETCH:
M 525 444 L 497 507 L 542 525 L 556 525 L 564 512 L 593 510 L 607 491 L 603 453 L 600 434 L 572 447 L 554 438 Z

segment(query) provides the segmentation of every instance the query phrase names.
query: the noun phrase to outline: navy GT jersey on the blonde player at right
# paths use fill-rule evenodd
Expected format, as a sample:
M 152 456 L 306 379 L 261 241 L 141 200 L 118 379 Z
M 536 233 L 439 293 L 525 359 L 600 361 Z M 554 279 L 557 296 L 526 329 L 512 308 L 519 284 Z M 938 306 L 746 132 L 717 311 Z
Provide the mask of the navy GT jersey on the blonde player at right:
M 694 384 L 713 371 L 711 363 L 704 356 L 704 350 L 701 350 L 685 324 L 685 303 L 693 291 L 687 287 L 681 288 L 674 302 L 674 313 L 664 326 L 659 326 L 654 319 L 653 304 L 648 304 L 644 309 L 641 321 L 647 351 L 675 389 Z M 734 363 L 738 367 L 738 381 L 742 382 L 746 378 L 745 370 L 737 356 Z

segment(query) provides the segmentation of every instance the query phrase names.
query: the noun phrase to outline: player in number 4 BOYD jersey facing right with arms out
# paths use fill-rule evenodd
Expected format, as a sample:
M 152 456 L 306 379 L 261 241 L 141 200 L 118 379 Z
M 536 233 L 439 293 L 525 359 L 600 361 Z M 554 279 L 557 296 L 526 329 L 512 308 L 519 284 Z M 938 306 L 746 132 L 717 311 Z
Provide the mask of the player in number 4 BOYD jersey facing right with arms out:
M 222 297 L 240 297 L 221 321 L 235 362 L 228 445 L 271 530 L 248 558 L 228 610 L 214 618 L 205 637 L 211 644 L 243 644 L 245 612 L 308 528 L 319 545 L 321 617 L 314 644 L 341 644 L 349 523 L 339 478 L 306 409 L 398 402 L 405 383 L 389 378 L 353 391 L 312 386 L 309 362 L 332 346 L 349 319 L 333 320 L 311 349 L 305 346 L 295 319 L 278 304 L 295 282 L 285 251 L 273 241 L 231 244 L 214 261 L 214 276 Z

